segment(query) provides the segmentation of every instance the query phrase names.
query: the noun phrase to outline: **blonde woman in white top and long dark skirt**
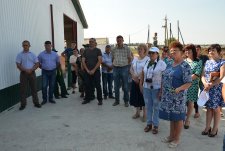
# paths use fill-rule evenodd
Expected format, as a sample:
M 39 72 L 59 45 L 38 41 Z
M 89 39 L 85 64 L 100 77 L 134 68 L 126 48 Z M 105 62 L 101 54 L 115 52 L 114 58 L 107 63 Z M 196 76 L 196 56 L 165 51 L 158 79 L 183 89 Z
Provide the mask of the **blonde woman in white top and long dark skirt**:
M 147 56 L 147 46 L 145 44 L 140 44 L 138 46 L 138 58 L 134 58 L 131 64 L 130 73 L 132 77 L 131 90 L 130 90 L 130 105 L 136 107 L 136 113 L 133 115 L 133 119 L 140 117 L 140 110 L 143 108 L 143 121 L 146 119 L 145 114 L 145 103 L 143 94 L 139 89 L 139 81 L 141 72 L 143 70 L 144 65 L 149 60 Z

